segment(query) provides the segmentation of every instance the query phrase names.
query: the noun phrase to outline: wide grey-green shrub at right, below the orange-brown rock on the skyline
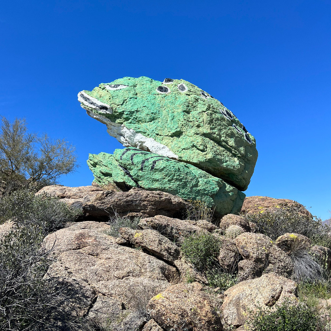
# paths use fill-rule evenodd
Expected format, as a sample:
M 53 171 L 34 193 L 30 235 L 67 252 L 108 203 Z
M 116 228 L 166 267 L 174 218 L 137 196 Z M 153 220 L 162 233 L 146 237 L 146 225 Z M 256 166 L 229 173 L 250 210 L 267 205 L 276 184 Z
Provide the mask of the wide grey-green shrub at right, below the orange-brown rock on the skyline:
M 299 212 L 298 207 L 279 208 L 274 212 L 263 211 L 259 214 L 247 214 L 245 217 L 257 224 L 259 232 L 271 239 L 290 232 L 299 233 L 311 239 L 315 245 L 331 247 L 329 226 L 323 226 L 316 217 L 309 217 Z

